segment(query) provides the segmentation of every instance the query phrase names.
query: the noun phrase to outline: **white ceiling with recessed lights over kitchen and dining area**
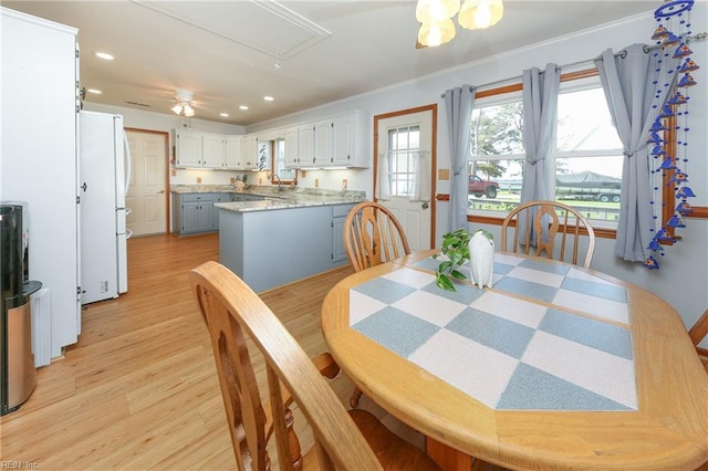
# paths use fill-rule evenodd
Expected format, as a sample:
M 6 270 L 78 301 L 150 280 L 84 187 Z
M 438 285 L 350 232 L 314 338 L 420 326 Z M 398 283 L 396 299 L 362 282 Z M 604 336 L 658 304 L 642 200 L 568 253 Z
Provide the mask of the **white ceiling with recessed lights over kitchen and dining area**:
M 494 27 L 458 27 L 450 43 L 416 49 L 415 0 L 2 1 L 79 29 L 81 84 L 103 92 L 87 102 L 169 114 L 181 88 L 194 92 L 195 117 L 242 126 L 652 14 L 660 4 L 504 0 Z M 100 60 L 97 51 L 115 60 Z

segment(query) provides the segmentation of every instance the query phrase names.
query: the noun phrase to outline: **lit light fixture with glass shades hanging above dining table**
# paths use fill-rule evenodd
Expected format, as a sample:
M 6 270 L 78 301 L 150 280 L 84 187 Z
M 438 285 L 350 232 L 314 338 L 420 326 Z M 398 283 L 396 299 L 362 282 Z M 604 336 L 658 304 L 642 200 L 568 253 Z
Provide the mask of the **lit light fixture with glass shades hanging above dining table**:
M 459 14 L 458 14 L 459 12 Z M 503 15 L 502 0 L 418 0 L 416 20 L 420 23 L 418 44 L 436 46 L 455 38 L 452 17 L 456 14 L 460 27 L 479 30 L 496 24 Z

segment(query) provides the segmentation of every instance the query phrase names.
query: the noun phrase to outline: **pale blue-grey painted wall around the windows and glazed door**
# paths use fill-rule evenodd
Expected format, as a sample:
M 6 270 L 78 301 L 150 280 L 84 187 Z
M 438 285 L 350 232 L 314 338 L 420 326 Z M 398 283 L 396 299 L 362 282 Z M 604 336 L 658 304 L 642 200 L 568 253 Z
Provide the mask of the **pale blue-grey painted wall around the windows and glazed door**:
M 706 10 L 705 2 L 695 4 L 691 12 L 694 33 L 706 31 L 706 19 L 708 18 Z M 435 75 L 417 77 L 396 86 L 259 123 L 258 125 L 249 126 L 246 130 L 248 133 L 258 133 L 353 109 L 362 111 L 373 117 L 377 114 L 435 103 L 438 104 L 438 168 L 449 168 L 447 121 L 445 105 L 440 97 L 445 90 L 462 84 L 480 86 L 520 77 L 524 69 L 531 66 L 542 69 L 549 62 L 563 66 L 579 61 L 590 61 L 607 48 L 620 51 L 633 43 L 652 44 L 650 35 L 655 28 L 656 22 L 654 21 L 653 12 L 648 11 L 645 14 L 632 17 L 610 25 L 581 31 L 576 34 L 558 38 L 544 43 L 531 44 L 521 50 L 497 55 L 489 60 L 464 64 Z M 690 43 L 690 48 L 694 51 L 693 59 L 701 66 L 700 70 L 693 73 L 699 86 L 694 86 L 687 92 L 690 97 L 690 127 L 694 129 L 694 133 L 689 136 L 690 161 L 687 171 L 690 176 L 690 186 L 698 195 L 698 198 L 690 201 L 694 206 L 708 206 L 708 159 L 705 157 L 708 155 L 708 135 L 705 133 L 705 129 L 708 128 L 708 107 L 706 106 L 708 53 L 706 52 L 706 41 Z M 149 123 L 138 125 L 136 124 L 137 122 L 137 117 L 134 121 L 132 116 L 126 114 L 127 126 L 153 128 Z M 168 128 L 169 126 L 166 126 L 166 124 L 160 123 L 162 126 Z M 170 126 L 179 124 L 173 119 Z M 373 126 L 373 119 L 369 122 L 369 126 Z M 198 128 L 196 121 L 195 128 Z M 207 128 L 205 127 L 202 130 L 207 130 Z M 368 130 L 368 135 L 372 136 L 372 129 L 369 128 Z M 235 134 L 241 133 L 237 132 Z M 314 187 L 314 181 L 317 179 L 321 188 L 341 189 L 343 178 L 348 179 L 350 189 L 366 190 L 367 196 L 371 198 L 373 186 L 371 169 L 309 170 L 304 177 L 301 177 L 300 186 Z M 449 192 L 449 182 L 438 180 L 437 190 L 439 193 Z M 438 237 L 445 232 L 447 214 L 447 203 L 438 202 L 436 221 Z M 487 229 L 498 233 L 498 227 Z M 614 241 L 607 239 L 600 240 L 593 268 L 658 294 L 681 314 L 687 325 L 693 324 L 708 306 L 708 243 L 706 242 L 708 240 L 708 221 L 689 219 L 688 227 L 679 229 L 678 234 L 683 236 L 684 240 L 677 245 L 666 249 L 667 255 L 659 259 L 660 270 L 648 271 L 641 264 L 625 263 L 617 260 L 613 255 Z

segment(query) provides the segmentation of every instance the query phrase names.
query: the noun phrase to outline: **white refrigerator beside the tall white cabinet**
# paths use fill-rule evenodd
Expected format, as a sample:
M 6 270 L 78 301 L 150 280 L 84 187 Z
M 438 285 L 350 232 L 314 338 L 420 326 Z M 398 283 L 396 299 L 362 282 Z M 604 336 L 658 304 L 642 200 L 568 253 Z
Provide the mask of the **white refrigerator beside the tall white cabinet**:
M 121 115 L 81 112 L 79 142 L 81 304 L 88 304 L 128 290 L 131 153 Z

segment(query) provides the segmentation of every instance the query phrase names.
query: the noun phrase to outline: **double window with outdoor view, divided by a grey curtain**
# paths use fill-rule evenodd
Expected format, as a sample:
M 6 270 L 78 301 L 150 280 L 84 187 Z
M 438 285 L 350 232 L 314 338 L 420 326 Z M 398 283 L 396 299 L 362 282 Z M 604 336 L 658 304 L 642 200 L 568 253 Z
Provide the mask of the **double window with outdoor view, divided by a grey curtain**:
M 613 228 L 620 214 L 622 143 L 597 76 L 561 82 L 549 188 L 593 226 Z M 472 111 L 469 212 L 504 217 L 520 200 L 523 172 L 521 91 L 478 98 Z

